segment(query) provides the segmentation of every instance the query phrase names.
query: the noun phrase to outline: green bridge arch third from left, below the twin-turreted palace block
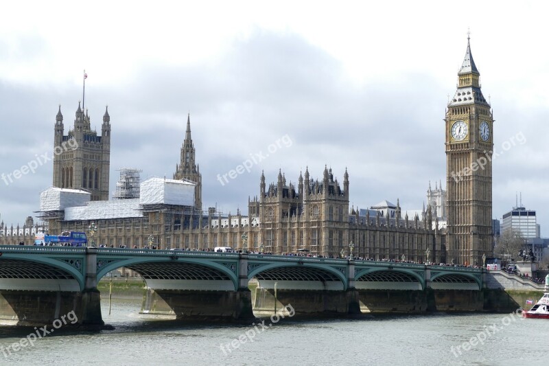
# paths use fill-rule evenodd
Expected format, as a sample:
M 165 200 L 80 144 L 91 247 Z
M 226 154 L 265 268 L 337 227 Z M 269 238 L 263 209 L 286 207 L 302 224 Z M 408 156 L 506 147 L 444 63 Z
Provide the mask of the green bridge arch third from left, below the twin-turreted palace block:
M 347 276 L 331 266 L 294 262 L 270 263 L 248 269 L 248 279 L 255 277 L 261 286 L 274 287 L 279 283 L 280 289 L 303 290 L 347 290 Z

